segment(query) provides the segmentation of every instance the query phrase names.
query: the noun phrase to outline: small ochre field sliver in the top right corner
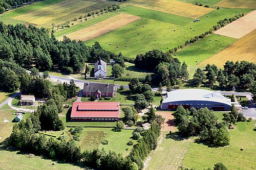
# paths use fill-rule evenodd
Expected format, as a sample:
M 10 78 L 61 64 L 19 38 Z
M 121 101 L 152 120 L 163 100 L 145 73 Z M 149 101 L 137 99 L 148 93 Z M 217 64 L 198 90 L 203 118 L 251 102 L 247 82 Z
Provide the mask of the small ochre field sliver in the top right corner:
M 255 0 L 223 0 L 215 6 L 227 7 L 227 8 L 256 8 Z

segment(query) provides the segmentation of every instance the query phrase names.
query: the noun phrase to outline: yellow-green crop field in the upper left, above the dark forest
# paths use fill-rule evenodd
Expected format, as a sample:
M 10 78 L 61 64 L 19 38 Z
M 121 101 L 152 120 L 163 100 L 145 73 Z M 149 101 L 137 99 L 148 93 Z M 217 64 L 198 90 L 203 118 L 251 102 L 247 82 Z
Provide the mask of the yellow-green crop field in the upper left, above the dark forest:
M 91 1 L 65 0 L 45 8 L 16 16 L 13 19 L 34 23 L 36 25 L 49 26 L 52 22 L 56 24 L 63 20 L 78 17 L 80 14 L 82 14 L 83 9 L 94 4 L 96 3 Z

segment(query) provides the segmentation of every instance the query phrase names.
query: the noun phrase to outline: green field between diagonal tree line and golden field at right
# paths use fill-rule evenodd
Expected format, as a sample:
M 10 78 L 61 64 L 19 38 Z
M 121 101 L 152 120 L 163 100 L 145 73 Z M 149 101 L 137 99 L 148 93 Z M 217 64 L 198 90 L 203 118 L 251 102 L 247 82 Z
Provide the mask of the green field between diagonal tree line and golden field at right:
M 217 41 L 216 41 L 217 40 Z M 177 53 L 177 58 L 189 66 L 196 66 L 210 56 L 220 52 L 237 39 L 210 34 L 197 42 L 188 45 Z

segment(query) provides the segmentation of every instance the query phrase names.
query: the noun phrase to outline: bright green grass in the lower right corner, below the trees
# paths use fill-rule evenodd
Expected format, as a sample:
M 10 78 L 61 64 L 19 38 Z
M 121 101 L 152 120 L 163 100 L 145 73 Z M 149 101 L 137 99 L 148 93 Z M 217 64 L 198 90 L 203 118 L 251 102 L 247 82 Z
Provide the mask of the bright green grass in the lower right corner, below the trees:
M 255 169 L 256 134 L 253 131 L 254 124 L 254 121 L 237 123 L 237 127 L 229 132 L 230 144 L 226 147 L 210 148 L 202 143 L 190 143 L 182 164 L 189 168 L 203 169 L 222 162 L 228 169 Z M 244 151 L 240 151 L 240 148 L 243 148 Z

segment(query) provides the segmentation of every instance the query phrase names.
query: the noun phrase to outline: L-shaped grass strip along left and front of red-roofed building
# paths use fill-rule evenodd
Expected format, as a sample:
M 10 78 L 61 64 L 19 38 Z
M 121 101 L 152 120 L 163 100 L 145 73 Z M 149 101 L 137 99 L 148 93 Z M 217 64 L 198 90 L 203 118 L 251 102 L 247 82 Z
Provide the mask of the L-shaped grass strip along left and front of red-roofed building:
M 83 127 L 115 127 L 116 122 L 71 122 L 71 108 L 63 109 L 59 119 L 62 120 L 65 126 L 83 126 Z M 63 116 L 64 115 L 64 116 Z

